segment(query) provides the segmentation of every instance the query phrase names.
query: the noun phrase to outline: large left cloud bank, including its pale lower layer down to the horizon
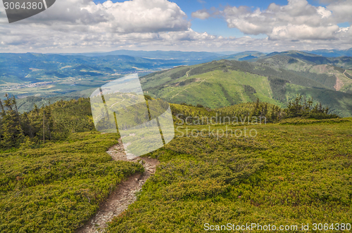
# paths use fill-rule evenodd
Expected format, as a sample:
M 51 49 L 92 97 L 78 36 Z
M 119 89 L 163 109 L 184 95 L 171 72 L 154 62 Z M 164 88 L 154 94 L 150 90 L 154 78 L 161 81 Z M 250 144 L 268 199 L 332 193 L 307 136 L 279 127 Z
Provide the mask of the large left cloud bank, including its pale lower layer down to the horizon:
M 8 24 L 0 8 L 2 51 L 51 52 L 63 48 L 89 50 L 160 40 L 165 32 L 187 32 L 191 26 L 177 4 L 167 0 L 122 3 L 61 0 L 31 18 Z

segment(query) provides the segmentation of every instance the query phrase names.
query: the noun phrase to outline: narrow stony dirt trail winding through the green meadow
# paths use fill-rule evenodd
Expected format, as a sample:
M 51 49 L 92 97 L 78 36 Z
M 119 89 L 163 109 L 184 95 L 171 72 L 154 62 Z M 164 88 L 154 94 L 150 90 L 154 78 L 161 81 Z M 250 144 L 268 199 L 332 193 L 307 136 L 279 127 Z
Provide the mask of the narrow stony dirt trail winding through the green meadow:
M 103 232 L 107 226 L 106 222 L 110 222 L 115 216 L 120 215 L 125 209 L 136 201 L 136 192 L 142 189 L 144 182 L 155 173 L 156 166 L 159 164 L 157 159 L 149 159 L 142 157 L 134 157 L 132 154 L 125 154 L 121 140 L 117 145 L 109 148 L 107 151 L 113 160 L 122 161 L 139 161 L 143 163 L 145 172 L 131 175 L 127 180 L 120 182 L 118 187 L 110 194 L 108 199 L 99 206 L 99 211 L 90 218 L 82 227 L 78 228 L 75 233 L 97 233 Z

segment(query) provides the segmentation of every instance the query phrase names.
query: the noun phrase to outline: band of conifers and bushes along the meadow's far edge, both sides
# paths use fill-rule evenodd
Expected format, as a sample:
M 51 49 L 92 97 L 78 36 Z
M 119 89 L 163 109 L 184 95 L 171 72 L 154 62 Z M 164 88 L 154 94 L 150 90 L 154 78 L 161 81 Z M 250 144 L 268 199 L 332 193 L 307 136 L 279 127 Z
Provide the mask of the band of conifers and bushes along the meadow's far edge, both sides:
M 145 95 L 145 98 L 146 101 L 152 99 L 149 95 Z M 313 99 L 306 100 L 302 96 L 297 96 L 294 101 L 289 102 L 286 109 L 259 102 L 258 98 L 255 103 L 249 102 L 219 109 L 186 103 L 171 104 L 171 109 L 175 124 L 182 121 L 182 124 L 187 123 L 184 121 L 187 116 L 191 118 L 229 116 L 237 119 L 244 119 L 244 117 L 251 119 L 256 116 L 264 117 L 265 122 L 277 122 L 296 116 L 314 119 L 339 118 L 336 114 L 332 114 L 328 107 L 322 107 L 321 103 L 320 105 L 313 103 Z M 45 142 L 66 140 L 72 133 L 96 131 L 89 98 L 61 100 L 41 108 L 34 105 L 32 111 L 21 114 L 18 112 L 15 97 L 6 94 L 6 100 L 0 100 L 0 111 L 0 151 L 18 147 L 41 147 Z M 124 122 L 127 124 L 129 121 L 130 119 L 125 119 Z

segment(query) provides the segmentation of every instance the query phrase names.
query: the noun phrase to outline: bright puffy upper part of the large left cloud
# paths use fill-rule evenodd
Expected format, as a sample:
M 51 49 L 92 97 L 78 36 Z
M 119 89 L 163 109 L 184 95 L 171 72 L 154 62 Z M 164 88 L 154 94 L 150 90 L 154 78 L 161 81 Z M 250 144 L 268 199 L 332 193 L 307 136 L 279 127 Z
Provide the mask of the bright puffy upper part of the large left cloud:
M 190 25 L 187 15 L 177 4 L 167 0 L 132 0 L 122 3 L 89 0 L 61 0 L 48 10 L 20 21 L 46 25 L 73 25 L 78 29 L 104 32 L 165 32 L 184 31 Z M 70 30 L 75 29 L 70 28 Z

